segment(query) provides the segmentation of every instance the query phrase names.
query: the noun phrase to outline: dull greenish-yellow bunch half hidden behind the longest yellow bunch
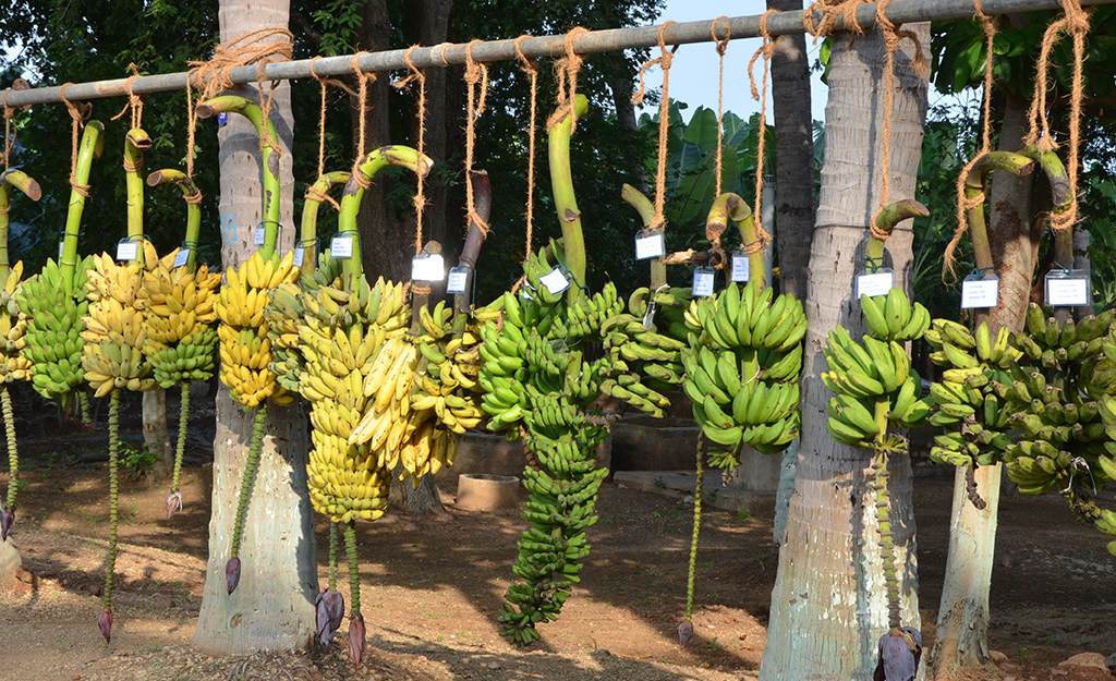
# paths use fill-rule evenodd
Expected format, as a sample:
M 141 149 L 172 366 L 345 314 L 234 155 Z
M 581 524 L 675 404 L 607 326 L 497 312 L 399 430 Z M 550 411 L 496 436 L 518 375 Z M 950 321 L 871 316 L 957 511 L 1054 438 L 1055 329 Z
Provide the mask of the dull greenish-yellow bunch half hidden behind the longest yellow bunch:
M 314 274 L 308 275 L 304 270 L 297 282 L 285 281 L 271 289 L 268 296 L 268 305 L 263 309 L 263 320 L 268 325 L 268 338 L 271 341 L 271 362 L 268 363 L 268 370 L 276 375 L 279 385 L 289 393 L 296 395 L 301 393 L 302 356 L 298 352 L 299 326 L 306 315 L 301 294 L 314 294 L 324 286 L 331 286 L 340 276 L 341 260 L 335 260 L 323 253 Z M 362 282 L 364 287 L 368 286 L 367 280 L 362 279 Z M 359 305 L 359 297 L 357 304 Z M 367 300 L 365 304 L 367 305 Z M 320 304 L 317 309 L 321 310 Z M 318 320 L 325 323 L 333 315 L 327 311 L 326 318 Z

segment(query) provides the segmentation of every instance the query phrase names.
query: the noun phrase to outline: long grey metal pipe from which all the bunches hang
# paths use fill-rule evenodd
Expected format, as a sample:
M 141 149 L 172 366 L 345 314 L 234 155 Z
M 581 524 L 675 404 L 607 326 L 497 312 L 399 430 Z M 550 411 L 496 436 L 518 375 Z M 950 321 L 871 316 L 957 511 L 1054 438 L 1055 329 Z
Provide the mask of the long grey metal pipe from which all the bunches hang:
M 1109 4 L 1116 0 L 1083 0 L 1081 4 Z M 1039 10 L 1051 10 L 1060 7 L 1058 0 L 983 0 L 985 13 L 1010 15 Z M 807 10 L 808 11 L 808 10 Z M 772 36 L 801 33 L 805 31 L 802 16 L 806 11 L 777 12 L 768 18 L 768 32 Z M 886 8 L 886 16 L 895 23 L 914 21 L 944 21 L 963 19 L 975 13 L 973 0 L 893 0 Z M 815 12 L 815 20 L 820 20 L 820 12 Z M 856 20 L 869 28 L 876 22 L 876 3 L 862 4 L 856 10 Z M 666 45 L 686 45 L 693 42 L 711 42 L 711 29 L 715 20 L 686 21 L 672 23 L 663 30 Z M 760 15 L 734 17 L 728 19 L 729 33 L 733 40 L 756 38 L 760 36 Z M 716 22 L 715 32 L 719 39 L 724 38 L 724 20 Z M 837 21 L 837 29 L 845 27 L 844 20 Z M 614 28 L 599 31 L 587 31 L 573 41 L 574 50 L 579 55 L 608 52 L 622 49 L 653 47 L 658 44 L 661 26 L 641 26 L 633 28 Z M 529 58 L 557 57 L 565 54 L 565 36 L 542 36 L 526 38 L 521 44 L 523 55 Z M 411 52 L 412 63 L 419 68 L 431 66 L 450 66 L 465 63 L 466 45 L 443 44 L 433 47 L 417 48 Z M 406 68 L 404 54 L 406 50 L 395 49 L 382 52 L 362 54 L 356 63 L 362 71 L 387 71 Z M 478 61 L 510 61 L 516 59 L 514 40 L 488 40 L 475 42 L 472 57 Z M 323 57 L 314 60 L 299 59 L 277 61 L 263 67 L 264 80 L 283 80 L 291 78 L 310 78 L 318 76 L 339 76 L 355 73 L 354 55 L 340 57 Z M 132 81 L 132 92 L 136 95 L 166 93 L 186 88 L 189 73 L 161 74 L 142 76 Z M 259 80 L 259 69 L 256 66 L 242 66 L 232 69 L 229 77 L 237 85 Z M 8 106 L 25 106 L 32 104 L 60 103 L 61 88 L 58 86 L 37 87 L 26 90 L 2 90 L 0 97 Z M 128 94 L 127 79 L 96 80 L 79 83 L 66 88 L 66 98 L 73 102 L 118 97 Z

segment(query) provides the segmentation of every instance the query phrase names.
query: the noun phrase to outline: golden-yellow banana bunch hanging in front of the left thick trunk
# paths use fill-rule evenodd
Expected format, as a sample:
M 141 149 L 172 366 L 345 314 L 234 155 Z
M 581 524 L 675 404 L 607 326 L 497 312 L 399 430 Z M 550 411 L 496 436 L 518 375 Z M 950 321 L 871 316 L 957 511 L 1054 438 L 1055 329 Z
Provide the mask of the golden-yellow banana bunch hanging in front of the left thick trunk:
M 246 410 L 268 397 L 277 404 L 290 404 L 294 396 L 276 384 L 276 375 L 268 368 L 271 341 L 263 310 L 272 289 L 298 278 L 294 253 L 264 259 L 256 251 L 239 269 L 229 269 L 225 277 L 217 301 L 221 382 Z

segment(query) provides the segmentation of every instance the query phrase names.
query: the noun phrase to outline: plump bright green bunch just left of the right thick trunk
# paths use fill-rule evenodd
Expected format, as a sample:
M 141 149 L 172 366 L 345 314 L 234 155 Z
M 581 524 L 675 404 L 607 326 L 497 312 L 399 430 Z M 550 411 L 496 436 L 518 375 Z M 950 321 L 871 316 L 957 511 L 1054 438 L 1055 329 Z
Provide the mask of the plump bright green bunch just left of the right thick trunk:
M 802 305 L 756 282 L 730 284 L 693 300 L 692 332 L 682 351 L 682 390 L 710 441 L 710 463 L 739 466 L 740 448 L 782 451 L 798 435 L 798 375 L 802 368 Z

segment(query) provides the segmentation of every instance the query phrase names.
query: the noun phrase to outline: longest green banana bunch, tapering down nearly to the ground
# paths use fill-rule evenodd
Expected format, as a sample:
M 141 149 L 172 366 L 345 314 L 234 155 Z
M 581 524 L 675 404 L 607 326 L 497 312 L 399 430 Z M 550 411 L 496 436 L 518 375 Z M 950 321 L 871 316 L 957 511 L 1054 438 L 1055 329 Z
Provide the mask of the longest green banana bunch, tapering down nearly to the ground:
M 478 382 L 485 391 L 481 406 L 492 416 L 489 429 L 509 430 L 514 439 L 522 423 L 527 449 L 539 463 L 525 471 L 530 499 L 523 519 L 530 528 L 512 567 L 521 582 L 508 588 L 498 617 L 501 635 L 517 645 L 538 640 L 536 624 L 555 620 L 579 581 L 589 551 L 585 531 L 596 522 L 597 490 L 608 474 L 597 468 L 608 428 L 595 403 L 612 359 L 588 362 L 580 346 L 603 341 L 606 319 L 594 310 L 618 311 L 615 289 L 567 303 L 540 281 L 552 269 L 551 257 L 556 265 L 564 261 L 559 241 L 523 263 L 526 285 L 490 306 L 502 306 L 503 315 L 481 327 Z M 573 307 L 581 309 L 571 314 Z

